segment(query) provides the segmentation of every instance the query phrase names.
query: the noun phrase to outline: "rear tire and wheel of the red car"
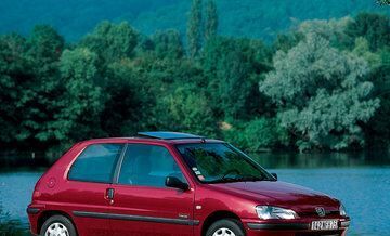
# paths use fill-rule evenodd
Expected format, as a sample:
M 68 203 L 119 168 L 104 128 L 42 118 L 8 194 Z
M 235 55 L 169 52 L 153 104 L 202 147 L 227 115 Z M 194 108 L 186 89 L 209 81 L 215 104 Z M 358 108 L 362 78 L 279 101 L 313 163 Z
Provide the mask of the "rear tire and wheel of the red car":
M 40 236 L 77 236 L 72 221 L 63 215 L 56 214 L 49 218 L 42 225 Z

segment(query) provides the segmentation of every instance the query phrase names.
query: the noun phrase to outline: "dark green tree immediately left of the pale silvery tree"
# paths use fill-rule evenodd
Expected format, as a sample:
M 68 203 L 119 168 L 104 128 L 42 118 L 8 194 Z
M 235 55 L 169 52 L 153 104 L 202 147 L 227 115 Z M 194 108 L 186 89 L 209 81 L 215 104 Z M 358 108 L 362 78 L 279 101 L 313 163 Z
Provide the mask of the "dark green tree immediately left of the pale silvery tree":
M 258 76 L 269 71 L 268 51 L 263 43 L 251 40 L 216 37 L 206 43 L 202 66 L 216 117 L 248 119 L 259 115 L 251 113 L 257 110 L 253 103 L 263 100 L 252 88 L 257 88 Z

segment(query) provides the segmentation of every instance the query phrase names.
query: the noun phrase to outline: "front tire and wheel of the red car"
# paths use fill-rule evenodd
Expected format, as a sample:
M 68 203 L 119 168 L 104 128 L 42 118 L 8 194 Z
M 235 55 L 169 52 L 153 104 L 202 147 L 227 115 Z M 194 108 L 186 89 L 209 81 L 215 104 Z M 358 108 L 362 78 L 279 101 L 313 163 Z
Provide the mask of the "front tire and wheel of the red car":
M 206 236 L 245 236 L 243 224 L 235 219 L 216 221 L 207 230 Z

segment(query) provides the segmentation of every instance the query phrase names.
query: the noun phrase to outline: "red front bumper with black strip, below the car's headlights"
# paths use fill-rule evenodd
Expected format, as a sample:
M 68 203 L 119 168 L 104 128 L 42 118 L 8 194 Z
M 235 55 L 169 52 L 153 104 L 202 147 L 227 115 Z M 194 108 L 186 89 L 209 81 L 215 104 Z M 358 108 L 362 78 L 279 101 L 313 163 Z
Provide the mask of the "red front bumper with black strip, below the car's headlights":
M 247 236 L 344 236 L 350 225 L 350 219 L 338 219 L 338 230 L 312 231 L 311 222 L 318 219 L 288 221 L 252 221 L 243 220 Z M 327 219 L 321 219 L 327 220 Z M 328 219 L 330 220 L 330 219 Z

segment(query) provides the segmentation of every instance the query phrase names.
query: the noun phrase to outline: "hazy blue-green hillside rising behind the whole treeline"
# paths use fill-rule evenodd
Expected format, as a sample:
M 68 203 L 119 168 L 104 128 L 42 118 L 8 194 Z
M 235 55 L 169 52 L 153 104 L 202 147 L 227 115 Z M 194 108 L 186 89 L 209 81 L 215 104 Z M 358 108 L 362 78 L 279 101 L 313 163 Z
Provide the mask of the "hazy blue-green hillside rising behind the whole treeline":
M 276 3 L 277 2 L 277 3 Z M 291 24 L 310 18 L 355 15 L 361 11 L 390 14 L 375 0 L 217 0 L 220 34 L 272 39 Z M 139 30 L 185 31 L 191 0 L 2 0 L 0 34 L 27 34 L 36 24 L 53 25 L 75 41 L 99 22 L 128 21 Z

